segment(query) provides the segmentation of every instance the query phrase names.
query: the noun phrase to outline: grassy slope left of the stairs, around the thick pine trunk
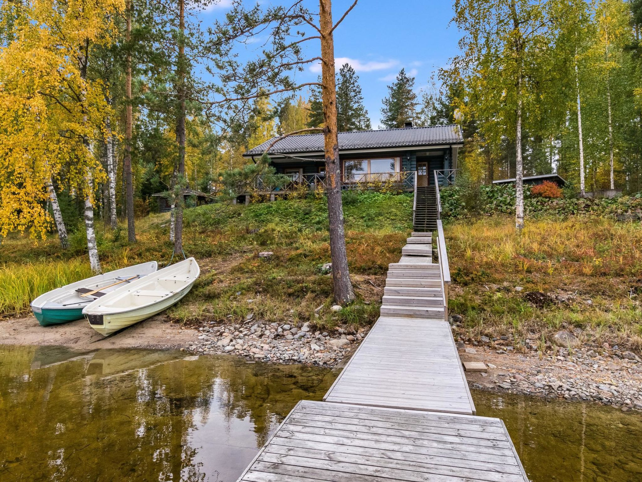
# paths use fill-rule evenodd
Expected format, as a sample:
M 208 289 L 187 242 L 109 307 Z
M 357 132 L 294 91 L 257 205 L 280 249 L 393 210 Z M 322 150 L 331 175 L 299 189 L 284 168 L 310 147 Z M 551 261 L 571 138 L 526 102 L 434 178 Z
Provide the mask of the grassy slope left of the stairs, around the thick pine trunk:
M 187 256 L 198 260 L 202 275 L 191 293 L 168 311 L 169 316 L 185 324 L 238 322 L 250 313 L 270 322 L 310 320 L 320 329 L 371 324 L 379 311 L 388 263 L 399 259 L 412 229 L 412 196 L 347 193 L 344 211 L 349 266 L 358 296 L 352 305 L 336 313 L 329 309 L 333 305 L 332 280 L 321 269 L 330 262 L 324 200 L 290 199 L 186 210 L 184 248 Z M 148 260 L 158 260 L 161 266 L 169 262 L 168 214 L 139 219 L 136 229 L 137 243 L 128 244 L 124 225 L 114 233 L 98 227 L 105 271 Z M 82 266 L 89 276 L 83 234 L 72 235 L 67 251 L 60 249 L 55 236 L 38 244 L 17 235 L 3 240 L 3 276 L 28 269 L 39 271 L 44 265 L 52 269 Z M 263 259 L 258 256 L 260 251 L 274 254 Z M 22 290 L 19 297 L 0 291 L 0 315 L 25 312 L 40 292 L 83 277 L 85 274 L 68 281 L 52 280 L 30 291 Z

